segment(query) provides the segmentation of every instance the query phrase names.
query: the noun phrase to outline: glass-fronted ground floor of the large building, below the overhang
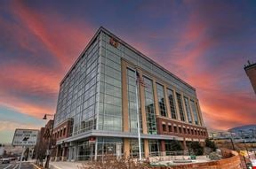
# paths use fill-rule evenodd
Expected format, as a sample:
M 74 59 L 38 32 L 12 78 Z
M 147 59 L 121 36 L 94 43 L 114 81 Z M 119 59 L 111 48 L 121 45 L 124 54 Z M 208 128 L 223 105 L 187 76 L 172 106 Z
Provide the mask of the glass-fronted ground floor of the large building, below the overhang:
M 65 142 L 56 147 L 55 159 L 59 160 L 84 161 L 100 159 L 106 155 L 139 157 L 138 139 L 131 138 L 93 137 L 92 139 L 90 137 L 76 142 Z M 185 139 L 183 141 L 141 139 L 140 148 L 142 157 L 173 156 L 174 152 L 181 155 L 187 150 Z

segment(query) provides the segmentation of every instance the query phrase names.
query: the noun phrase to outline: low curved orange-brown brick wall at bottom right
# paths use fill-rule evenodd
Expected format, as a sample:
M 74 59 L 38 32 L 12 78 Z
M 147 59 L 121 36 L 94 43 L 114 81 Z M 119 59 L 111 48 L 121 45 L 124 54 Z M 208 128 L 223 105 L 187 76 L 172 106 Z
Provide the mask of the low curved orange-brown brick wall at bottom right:
M 222 150 L 223 159 L 220 159 L 218 161 L 211 161 L 211 162 L 205 162 L 205 163 L 196 163 L 196 164 L 188 164 L 188 165 L 177 165 L 172 167 L 156 167 L 156 169 L 166 169 L 166 168 L 172 168 L 172 169 L 190 169 L 190 168 L 196 168 L 196 169 L 242 169 L 240 157 L 236 151 L 233 150 Z M 225 158 L 226 157 L 226 158 Z

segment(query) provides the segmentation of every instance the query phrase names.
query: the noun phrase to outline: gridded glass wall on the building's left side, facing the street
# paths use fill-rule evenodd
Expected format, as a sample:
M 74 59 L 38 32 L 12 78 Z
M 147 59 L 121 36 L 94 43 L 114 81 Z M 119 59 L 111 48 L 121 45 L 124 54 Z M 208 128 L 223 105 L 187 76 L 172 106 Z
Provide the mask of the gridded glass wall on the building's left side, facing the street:
M 54 127 L 62 121 L 73 119 L 71 135 L 96 128 L 99 48 L 99 42 L 96 40 L 60 84 Z

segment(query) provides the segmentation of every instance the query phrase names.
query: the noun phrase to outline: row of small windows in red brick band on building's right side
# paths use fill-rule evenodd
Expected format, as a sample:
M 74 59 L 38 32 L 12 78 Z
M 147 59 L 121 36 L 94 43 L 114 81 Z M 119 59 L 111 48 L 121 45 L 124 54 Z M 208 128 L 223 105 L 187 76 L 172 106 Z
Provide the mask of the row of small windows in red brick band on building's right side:
M 192 134 L 192 135 L 206 136 L 205 130 L 197 130 L 195 128 L 177 127 L 177 126 L 162 124 L 162 130 L 164 133 Z

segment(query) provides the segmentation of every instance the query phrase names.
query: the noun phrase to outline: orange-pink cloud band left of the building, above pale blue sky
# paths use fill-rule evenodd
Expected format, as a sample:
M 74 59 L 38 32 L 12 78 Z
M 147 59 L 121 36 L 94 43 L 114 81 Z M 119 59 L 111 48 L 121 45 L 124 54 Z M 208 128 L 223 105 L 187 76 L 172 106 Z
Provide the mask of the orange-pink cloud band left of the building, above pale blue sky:
M 55 100 L 59 88 L 60 73 L 36 68 L 32 65 L 6 65 L 0 72 L 0 104 L 25 114 L 42 117 L 45 113 L 55 113 Z M 27 98 L 32 96 L 32 98 Z M 51 99 L 42 100 L 40 99 Z M 36 101 L 38 99 L 38 101 Z

